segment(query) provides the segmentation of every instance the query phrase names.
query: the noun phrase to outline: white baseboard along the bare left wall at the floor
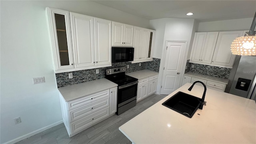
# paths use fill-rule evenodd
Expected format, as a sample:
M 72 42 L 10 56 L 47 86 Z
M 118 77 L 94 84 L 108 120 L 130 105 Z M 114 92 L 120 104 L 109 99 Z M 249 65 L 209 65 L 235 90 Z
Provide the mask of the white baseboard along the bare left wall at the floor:
M 40 133 L 40 132 L 43 132 L 44 130 L 47 130 L 47 129 L 49 129 L 49 128 L 52 128 L 52 127 L 54 127 L 54 126 L 57 126 L 58 124 L 61 124 L 61 123 L 63 123 L 63 120 L 60 120 L 60 121 L 58 121 L 58 122 L 55 122 L 55 123 L 53 123 L 53 124 L 50 124 L 50 125 L 45 126 L 45 127 L 43 127 L 43 128 L 40 128 L 40 129 L 35 130 L 35 131 L 33 131 L 33 132 L 30 132 L 30 133 L 28 133 L 28 134 L 24 134 L 23 136 L 20 136 L 20 137 L 18 137 L 18 138 L 14 138 L 14 139 L 12 139 L 12 140 L 10 140 L 10 141 L 8 141 L 8 142 L 5 142 L 5 143 L 3 143 L 3 144 L 14 144 L 14 143 L 16 143 L 16 142 L 19 142 L 19 141 L 21 141 L 21 140 L 24 140 L 25 138 L 28 138 L 28 137 L 30 137 L 30 136 L 34 136 L 35 134 L 38 134 L 38 133 Z

